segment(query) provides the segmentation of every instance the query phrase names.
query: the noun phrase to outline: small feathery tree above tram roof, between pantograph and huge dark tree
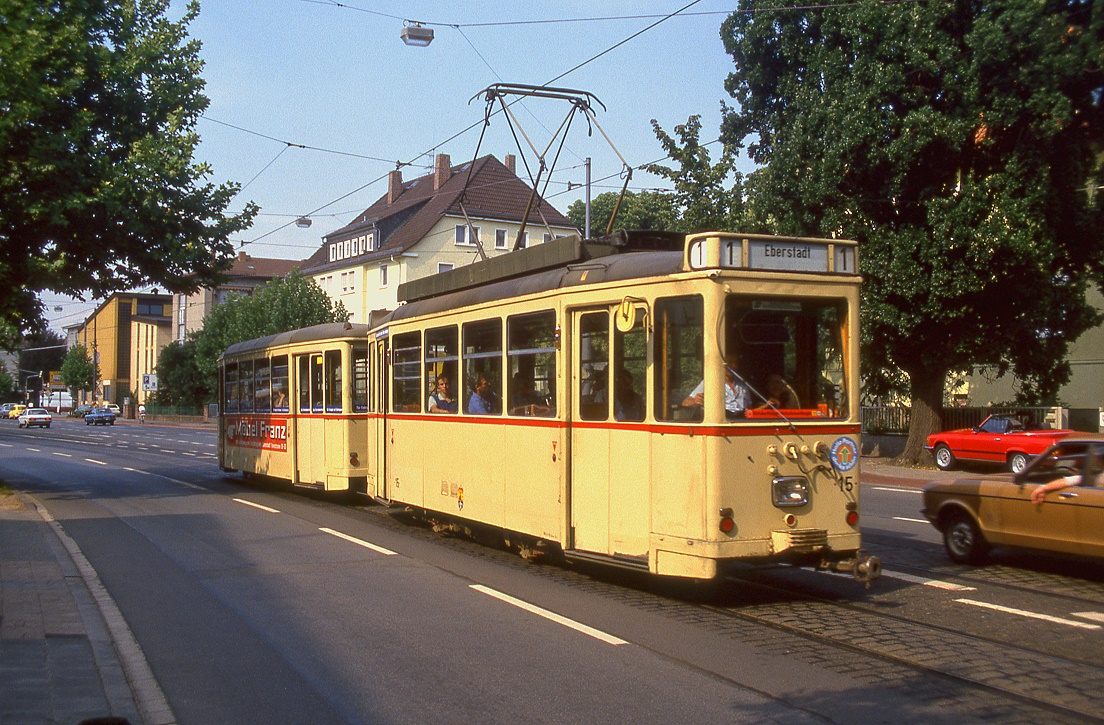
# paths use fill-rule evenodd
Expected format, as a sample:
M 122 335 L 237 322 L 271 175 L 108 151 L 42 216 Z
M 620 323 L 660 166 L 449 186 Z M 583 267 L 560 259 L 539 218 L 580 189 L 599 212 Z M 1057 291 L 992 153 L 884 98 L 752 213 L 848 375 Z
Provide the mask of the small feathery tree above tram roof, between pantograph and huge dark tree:
M 675 184 L 679 228 L 684 232 L 741 230 L 745 215 L 743 174 L 735 168 L 735 147 L 723 145 L 721 158 L 713 163 L 709 149 L 700 141 L 700 116 L 691 116 L 686 124 L 675 127 L 678 139 L 660 128 L 655 118 L 651 128 L 667 156 L 679 164 L 678 169 L 658 163 L 646 167 Z

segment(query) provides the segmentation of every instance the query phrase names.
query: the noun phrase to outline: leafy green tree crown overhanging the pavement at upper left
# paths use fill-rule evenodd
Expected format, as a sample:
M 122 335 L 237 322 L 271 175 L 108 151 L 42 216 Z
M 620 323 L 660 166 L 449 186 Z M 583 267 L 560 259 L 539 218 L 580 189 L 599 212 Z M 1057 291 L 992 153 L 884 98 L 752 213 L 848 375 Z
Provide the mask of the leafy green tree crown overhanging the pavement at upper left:
M 42 320 L 41 290 L 104 297 L 210 285 L 237 184 L 192 162 L 200 44 L 169 0 L 0 0 L 0 332 Z

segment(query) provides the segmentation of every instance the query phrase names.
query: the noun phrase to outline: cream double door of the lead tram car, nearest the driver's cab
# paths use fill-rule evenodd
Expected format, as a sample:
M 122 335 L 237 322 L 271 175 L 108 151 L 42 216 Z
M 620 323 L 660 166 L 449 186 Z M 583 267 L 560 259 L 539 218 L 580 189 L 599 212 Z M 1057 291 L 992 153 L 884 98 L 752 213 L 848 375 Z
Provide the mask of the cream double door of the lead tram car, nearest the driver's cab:
M 649 456 L 641 323 L 627 332 L 609 309 L 572 318 L 572 548 L 646 557 Z

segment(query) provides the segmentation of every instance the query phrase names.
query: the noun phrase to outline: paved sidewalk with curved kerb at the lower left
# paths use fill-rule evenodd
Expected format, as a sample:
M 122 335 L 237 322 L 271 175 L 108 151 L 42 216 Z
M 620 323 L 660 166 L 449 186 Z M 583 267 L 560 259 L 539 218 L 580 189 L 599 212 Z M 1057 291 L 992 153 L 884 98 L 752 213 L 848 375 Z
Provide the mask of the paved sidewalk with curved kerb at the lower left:
M 53 526 L 0 491 L 0 723 L 142 723 L 99 608 Z

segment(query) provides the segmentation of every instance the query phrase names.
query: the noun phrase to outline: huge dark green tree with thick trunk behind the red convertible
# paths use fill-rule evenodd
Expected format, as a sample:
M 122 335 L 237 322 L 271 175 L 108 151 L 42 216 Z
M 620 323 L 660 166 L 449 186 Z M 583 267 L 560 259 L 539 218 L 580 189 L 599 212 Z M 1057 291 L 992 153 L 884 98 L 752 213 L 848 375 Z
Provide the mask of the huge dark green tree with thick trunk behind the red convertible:
M 860 242 L 864 375 L 911 387 L 902 459 L 941 426 L 948 371 L 996 365 L 1052 398 L 1098 322 L 1104 3 L 744 0 L 721 34 L 722 138 L 763 164 L 755 224 Z

